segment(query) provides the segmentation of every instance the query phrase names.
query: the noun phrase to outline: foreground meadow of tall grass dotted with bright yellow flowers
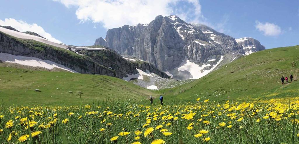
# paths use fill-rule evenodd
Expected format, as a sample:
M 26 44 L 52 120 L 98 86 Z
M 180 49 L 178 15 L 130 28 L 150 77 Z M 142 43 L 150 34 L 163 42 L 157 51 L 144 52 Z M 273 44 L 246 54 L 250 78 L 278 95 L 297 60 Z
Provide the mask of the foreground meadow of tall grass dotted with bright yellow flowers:
M 299 100 L 1 107 L 0 143 L 299 143 Z

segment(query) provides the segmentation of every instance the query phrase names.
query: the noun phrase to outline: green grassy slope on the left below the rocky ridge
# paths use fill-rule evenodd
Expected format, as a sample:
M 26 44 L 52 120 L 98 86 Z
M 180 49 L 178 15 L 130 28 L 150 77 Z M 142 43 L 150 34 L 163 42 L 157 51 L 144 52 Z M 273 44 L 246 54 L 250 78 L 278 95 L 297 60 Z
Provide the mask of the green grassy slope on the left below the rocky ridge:
M 41 92 L 35 92 L 35 89 Z M 8 105 L 63 105 L 129 98 L 140 101 L 149 95 L 155 96 L 150 90 L 109 76 L 1 66 L 0 91 L 0 100 Z M 78 92 L 83 93 L 81 100 Z

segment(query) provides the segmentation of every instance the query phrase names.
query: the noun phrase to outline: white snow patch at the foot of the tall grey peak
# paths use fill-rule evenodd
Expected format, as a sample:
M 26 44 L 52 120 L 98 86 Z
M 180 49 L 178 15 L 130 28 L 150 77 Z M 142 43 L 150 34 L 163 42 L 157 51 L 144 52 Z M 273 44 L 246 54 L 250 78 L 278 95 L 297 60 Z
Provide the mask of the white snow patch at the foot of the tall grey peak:
M 179 67 L 176 67 L 175 69 L 177 69 L 178 71 L 190 72 L 190 74 L 192 75 L 192 77 L 190 79 L 199 79 L 199 78 L 207 75 L 213 69 L 215 69 L 216 66 L 223 60 L 223 57 L 224 56 L 221 56 L 221 59 L 215 65 L 213 65 L 213 67 L 210 70 L 203 70 L 206 66 L 211 66 L 210 64 L 207 64 L 207 65 L 203 64 L 202 67 L 200 67 L 199 65 L 190 62 L 187 59 L 187 57 L 185 57 L 185 59 L 183 60 L 181 65 Z M 201 70 L 203 70 L 203 72 L 201 72 Z

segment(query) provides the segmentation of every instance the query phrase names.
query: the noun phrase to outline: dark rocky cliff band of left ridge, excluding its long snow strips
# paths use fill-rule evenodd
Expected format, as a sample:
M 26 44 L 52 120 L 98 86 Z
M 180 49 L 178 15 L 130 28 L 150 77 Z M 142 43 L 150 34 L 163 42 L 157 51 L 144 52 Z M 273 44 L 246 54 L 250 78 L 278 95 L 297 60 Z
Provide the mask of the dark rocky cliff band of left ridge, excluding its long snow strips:
M 154 65 L 142 61 L 127 61 L 114 50 L 103 47 L 101 50 L 72 51 L 51 46 L 34 40 L 20 39 L 4 34 L 0 31 L 0 52 L 37 57 L 50 60 L 84 74 L 108 75 L 117 78 L 127 77 L 127 74 L 136 74 L 136 69 L 149 70 L 163 78 L 169 78 Z

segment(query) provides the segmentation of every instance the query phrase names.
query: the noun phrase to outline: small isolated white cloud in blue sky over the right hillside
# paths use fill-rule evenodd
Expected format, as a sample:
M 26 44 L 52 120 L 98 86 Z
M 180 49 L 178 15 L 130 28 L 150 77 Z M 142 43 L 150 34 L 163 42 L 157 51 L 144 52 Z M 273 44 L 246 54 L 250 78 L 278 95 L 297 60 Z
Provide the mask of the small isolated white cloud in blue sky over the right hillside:
M 265 36 L 278 36 L 282 33 L 281 28 L 273 23 L 262 23 L 259 21 L 255 21 L 255 23 L 255 28 L 263 32 Z

